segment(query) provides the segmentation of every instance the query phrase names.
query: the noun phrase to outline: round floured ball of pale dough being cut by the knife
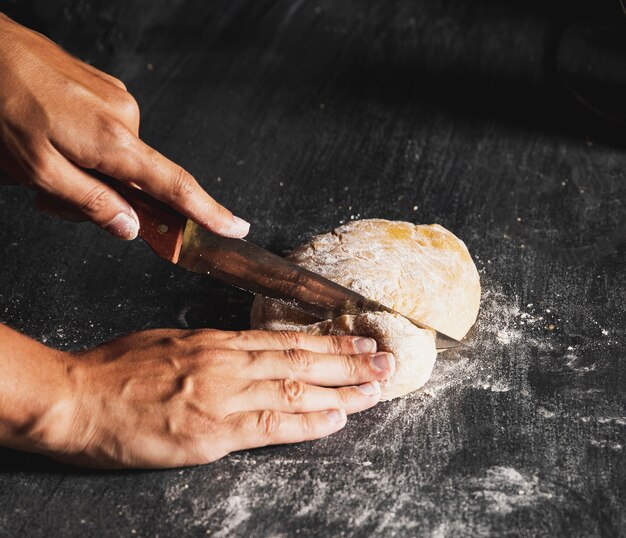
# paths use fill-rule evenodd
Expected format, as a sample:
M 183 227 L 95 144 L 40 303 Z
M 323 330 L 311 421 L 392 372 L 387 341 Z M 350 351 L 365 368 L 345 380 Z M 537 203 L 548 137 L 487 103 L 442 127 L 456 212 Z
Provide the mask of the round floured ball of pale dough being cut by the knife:
M 459 340 L 478 315 L 480 280 L 476 266 L 463 241 L 438 224 L 352 221 L 312 238 L 288 258 Z M 383 400 L 424 385 L 437 356 L 431 331 L 384 312 L 310 323 L 307 316 L 284 303 L 257 297 L 251 325 L 373 337 L 379 350 L 396 358 L 394 375 L 382 383 Z

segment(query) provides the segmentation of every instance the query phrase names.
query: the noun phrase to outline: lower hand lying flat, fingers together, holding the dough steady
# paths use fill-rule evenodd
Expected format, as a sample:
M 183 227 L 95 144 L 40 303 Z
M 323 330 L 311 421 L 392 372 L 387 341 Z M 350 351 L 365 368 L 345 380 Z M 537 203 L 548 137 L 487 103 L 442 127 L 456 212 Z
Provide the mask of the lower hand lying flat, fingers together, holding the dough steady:
M 148 468 L 325 437 L 379 401 L 395 362 L 375 348 L 297 332 L 126 336 L 67 356 L 74 412 L 49 446 L 71 463 Z

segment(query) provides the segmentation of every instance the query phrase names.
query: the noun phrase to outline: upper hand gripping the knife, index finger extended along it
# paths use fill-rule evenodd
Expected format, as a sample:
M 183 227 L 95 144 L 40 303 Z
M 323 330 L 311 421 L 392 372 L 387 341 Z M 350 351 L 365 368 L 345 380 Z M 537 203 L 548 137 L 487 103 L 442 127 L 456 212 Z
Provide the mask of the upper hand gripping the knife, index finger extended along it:
M 0 73 L 0 168 L 38 191 L 40 209 L 136 237 L 137 215 L 97 170 L 216 233 L 247 234 L 247 222 L 139 139 L 139 108 L 121 81 L 2 14 Z

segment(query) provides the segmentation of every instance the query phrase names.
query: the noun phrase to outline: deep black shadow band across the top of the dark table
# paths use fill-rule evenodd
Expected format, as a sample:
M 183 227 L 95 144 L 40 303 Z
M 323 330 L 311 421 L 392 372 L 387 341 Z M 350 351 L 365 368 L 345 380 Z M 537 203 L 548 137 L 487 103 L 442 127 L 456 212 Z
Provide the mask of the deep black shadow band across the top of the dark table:
M 414 103 L 618 147 L 626 141 L 619 0 L 152 4 L 78 3 L 55 19 L 52 4 L 28 0 L 7 12 L 105 70 L 128 55 L 180 55 L 176 83 L 187 91 L 227 75 L 233 87 L 276 89 L 284 97 L 277 106 L 287 108 L 292 97 L 318 106 L 323 94 L 344 114 L 361 100 Z M 233 69 L 234 60 L 246 67 Z

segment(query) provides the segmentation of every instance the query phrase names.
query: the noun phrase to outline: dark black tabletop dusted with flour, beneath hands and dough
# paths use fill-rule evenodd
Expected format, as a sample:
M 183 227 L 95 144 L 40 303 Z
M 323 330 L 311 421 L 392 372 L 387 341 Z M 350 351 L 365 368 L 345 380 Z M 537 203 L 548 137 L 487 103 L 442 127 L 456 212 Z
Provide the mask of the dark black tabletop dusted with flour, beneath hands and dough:
M 623 23 L 617 7 L 599 24 Z M 159 472 L 0 451 L 0 534 L 626 535 L 626 133 L 559 78 L 601 67 L 563 45 L 587 9 L 1 2 L 121 78 L 143 138 L 252 240 L 280 253 L 353 218 L 438 222 L 484 296 L 470 346 L 426 390 L 328 439 Z M 21 187 L 0 193 L 0 244 L 0 321 L 51 346 L 248 324 L 245 293 L 38 214 Z

